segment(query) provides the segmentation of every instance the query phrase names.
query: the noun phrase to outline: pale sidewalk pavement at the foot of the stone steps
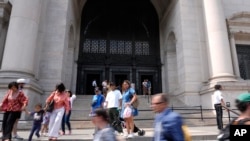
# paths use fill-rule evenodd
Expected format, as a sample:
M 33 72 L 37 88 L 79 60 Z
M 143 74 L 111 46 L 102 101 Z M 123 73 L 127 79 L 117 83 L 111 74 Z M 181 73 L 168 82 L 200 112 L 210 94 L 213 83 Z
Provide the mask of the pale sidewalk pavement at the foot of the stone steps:
M 199 127 L 188 127 L 193 140 L 216 140 L 216 136 L 219 133 L 216 126 L 199 126 Z M 153 128 L 143 128 L 146 131 L 144 136 L 138 136 L 135 134 L 135 141 L 151 141 L 154 133 Z M 126 132 L 126 130 L 124 130 Z M 18 131 L 18 135 L 23 137 L 24 140 L 28 139 L 30 131 Z M 59 141 L 92 141 L 94 129 L 74 129 L 71 135 L 63 135 L 58 138 Z M 120 140 L 125 140 L 124 137 L 119 136 Z M 37 137 L 33 136 L 34 141 L 45 141 L 48 137 Z

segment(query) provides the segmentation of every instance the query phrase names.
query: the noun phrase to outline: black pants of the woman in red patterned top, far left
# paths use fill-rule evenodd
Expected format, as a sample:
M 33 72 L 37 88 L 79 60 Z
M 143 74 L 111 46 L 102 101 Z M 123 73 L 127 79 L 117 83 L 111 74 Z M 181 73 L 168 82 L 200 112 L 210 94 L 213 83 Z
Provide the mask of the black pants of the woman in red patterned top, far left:
M 3 123 L 2 123 L 2 130 L 3 130 L 3 138 L 2 140 L 11 140 L 11 132 L 15 121 L 18 119 L 20 112 L 13 112 L 7 111 L 3 114 Z

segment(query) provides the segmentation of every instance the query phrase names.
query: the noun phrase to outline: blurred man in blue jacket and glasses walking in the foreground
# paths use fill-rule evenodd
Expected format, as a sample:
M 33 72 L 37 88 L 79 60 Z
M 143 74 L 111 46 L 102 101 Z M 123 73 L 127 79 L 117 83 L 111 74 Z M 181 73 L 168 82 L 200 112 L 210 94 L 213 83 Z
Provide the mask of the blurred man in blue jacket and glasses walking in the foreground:
M 166 94 L 154 95 L 151 107 L 156 113 L 153 141 L 184 141 L 182 118 L 168 108 Z

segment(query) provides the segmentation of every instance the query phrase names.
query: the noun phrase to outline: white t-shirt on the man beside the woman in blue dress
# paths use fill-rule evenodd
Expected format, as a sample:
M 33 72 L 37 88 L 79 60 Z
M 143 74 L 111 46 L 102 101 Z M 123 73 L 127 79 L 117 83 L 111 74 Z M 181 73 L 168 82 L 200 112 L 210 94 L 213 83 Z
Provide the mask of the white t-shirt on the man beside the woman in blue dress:
M 119 90 L 109 91 L 105 100 L 108 102 L 107 108 L 118 108 L 120 99 L 122 99 L 122 94 Z

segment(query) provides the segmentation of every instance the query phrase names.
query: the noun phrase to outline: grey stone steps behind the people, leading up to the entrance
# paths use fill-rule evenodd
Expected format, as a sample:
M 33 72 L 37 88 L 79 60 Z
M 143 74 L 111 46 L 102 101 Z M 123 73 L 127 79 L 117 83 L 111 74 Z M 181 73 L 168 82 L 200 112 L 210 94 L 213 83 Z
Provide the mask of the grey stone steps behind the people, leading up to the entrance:
M 89 117 L 92 97 L 93 95 L 77 95 L 77 98 L 73 104 L 73 110 L 71 114 L 71 124 L 73 129 L 89 129 L 94 127 L 91 122 L 91 118 Z M 140 101 L 140 105 L 138 107 L 139 115 L 135 117 L 135 124 L 139 128 L 151 128 L 153 127 L 154 113 L 150 108 L 149 99 L 141 95 L 138 95 L 138 98 Z M 178 103 L 178 106 L 176 106 L 176 103 Z M 170 105 L 172 104 L 173 103 L 170 103 Z M 211 110 L 203 110 L 202 114 L 204 119 L 201 120 L 201 112 L 199 107 L 185 107 L 185 105 L 181 101 L 174 101 L 174 104 L 174 111 L 182 115 L 184 122 L 188 126 L 195 127 L 216 125 L 216 118 Z M 185 109 L 183 107 L 185 107 Z M 227 113 L 225 112 L 224 117 L 227 117 Z M 0 119 L 2 119 L 2 114 L 0 114 Z M 227 124 L 228 122 L 228 118 L 224 118 L 224 124 Z M 21 120 L 18 126 L 20 129 L 30 129 L 32 126 L 32 121 Z

